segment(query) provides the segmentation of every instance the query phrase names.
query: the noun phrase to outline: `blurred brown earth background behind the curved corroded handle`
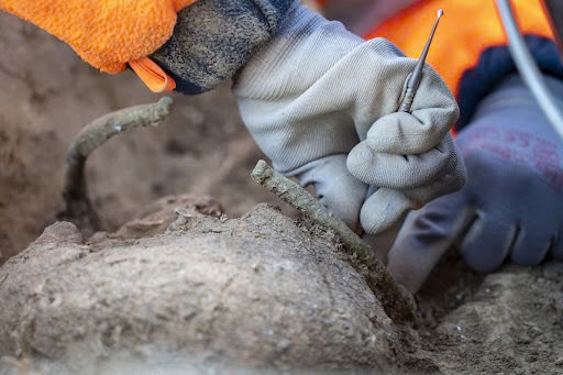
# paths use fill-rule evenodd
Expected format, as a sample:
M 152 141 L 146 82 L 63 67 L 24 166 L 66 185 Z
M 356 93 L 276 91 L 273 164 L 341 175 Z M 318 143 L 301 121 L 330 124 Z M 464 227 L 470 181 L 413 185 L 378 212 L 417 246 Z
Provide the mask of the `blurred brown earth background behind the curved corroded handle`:
M 64 43 L 7 14 L 0 14 L 0 49 L 9 51 L 0 58 L 1 264 L 53 222 L 74 135 L 107 112 L 158 96 L 132 73 L 90 68 Z M 170 194 L 212 195 L 232 216 L 273 201 L 247 177 L 262 156 L 229 85 L 174 99 L 175 110 L 159 129 L 115 137 L 89 159 L 90 197 L 106 229 Z

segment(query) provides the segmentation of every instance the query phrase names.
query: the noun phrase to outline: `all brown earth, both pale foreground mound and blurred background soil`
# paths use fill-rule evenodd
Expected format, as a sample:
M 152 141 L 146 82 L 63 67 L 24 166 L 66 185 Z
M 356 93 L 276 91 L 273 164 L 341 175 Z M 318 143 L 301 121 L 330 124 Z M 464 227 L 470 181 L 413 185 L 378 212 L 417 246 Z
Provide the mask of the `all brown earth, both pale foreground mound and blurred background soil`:
M 175 96 L 158 129 L 92 155 L 89 194 L 113 234 L 56 223 L 38 238 L 73 136 L 157 97 L 5 14 L 0 51 L 0 265 L 21 252 L 0 268 L 0 374 L 563 374 L 562 263 L 485 277 L 452 255 L 417 296 L 415 329 L 394 324 L 330 233 L 253 209 L 279 201 L 249 178 L 262 155 L 228 85 Z

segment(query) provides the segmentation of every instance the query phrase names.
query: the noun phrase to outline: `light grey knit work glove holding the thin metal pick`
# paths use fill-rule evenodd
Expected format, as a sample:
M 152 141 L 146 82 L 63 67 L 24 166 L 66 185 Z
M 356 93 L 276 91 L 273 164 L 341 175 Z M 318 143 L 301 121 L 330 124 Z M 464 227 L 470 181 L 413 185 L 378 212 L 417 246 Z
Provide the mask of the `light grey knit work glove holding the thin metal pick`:
M 366 185 L 383 187 L 362 209 L 364 230 L 378 233 L 407 209 L 464 183 L 449 135 L 457 106 L 430 67 L 412 113 L 394 113 L 415 63 L 388 41 L 365 42 L 296 3 L 234 77 L 233 89 L 244 122 L 274 167 L 322 186 L 322 199 L 350 225 Z M 342 170 L 347 153 L 356 179 Z

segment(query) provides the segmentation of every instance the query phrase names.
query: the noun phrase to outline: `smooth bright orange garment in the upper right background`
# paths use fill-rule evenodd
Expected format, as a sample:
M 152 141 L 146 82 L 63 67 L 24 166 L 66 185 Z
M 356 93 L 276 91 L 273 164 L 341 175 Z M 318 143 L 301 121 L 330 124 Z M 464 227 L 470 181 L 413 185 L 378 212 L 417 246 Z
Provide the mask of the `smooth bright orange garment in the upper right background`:
M 553 38 L 540 0 L 511 2 L 523 34 Z M 419 1 L 369 31 L 365 38 L 385 37 L 407 56 L 418 58 L 439 9 L 444 10 L 444 16 L 440 20 L 427 62 L 457 96 L 463 74 L 477 65 L 482 53 L 508 43 L 495 1 Z

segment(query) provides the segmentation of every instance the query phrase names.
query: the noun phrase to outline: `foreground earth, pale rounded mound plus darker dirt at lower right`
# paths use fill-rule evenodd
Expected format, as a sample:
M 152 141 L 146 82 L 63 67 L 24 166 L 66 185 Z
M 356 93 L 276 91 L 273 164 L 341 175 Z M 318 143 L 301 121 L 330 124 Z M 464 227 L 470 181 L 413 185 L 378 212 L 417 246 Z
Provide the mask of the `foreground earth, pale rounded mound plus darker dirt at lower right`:
M 55 223 L 0 268 L 0 374 L 563 373 L 562 263 L 485 277 L 448 260 L 397 322 L 325 230 L 159 206 L 91 239 Z

